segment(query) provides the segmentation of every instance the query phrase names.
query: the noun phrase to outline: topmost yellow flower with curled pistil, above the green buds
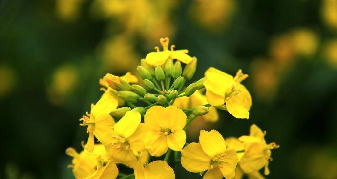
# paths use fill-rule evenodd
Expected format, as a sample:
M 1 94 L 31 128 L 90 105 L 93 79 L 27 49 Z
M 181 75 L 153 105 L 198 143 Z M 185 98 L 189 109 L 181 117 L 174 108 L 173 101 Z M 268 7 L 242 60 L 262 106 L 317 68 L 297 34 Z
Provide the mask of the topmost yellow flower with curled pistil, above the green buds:
M 187 53 L 188 50 L 174 50 L 174 45 L 171 46 L 171 50 L 169 50 L 169 38 L 161 38 L 160 43 L 163 46 L 163 51 L 159 51 L 158 47 L 155 47 L 157 52 L 151 52 L 147 54 L 145 57 L 145 61 L 152 66 L 163 65 L 168 58 L 177 59 L 183 63 L 190 63 L 192 61 L 192 57 L 190 57 Z

